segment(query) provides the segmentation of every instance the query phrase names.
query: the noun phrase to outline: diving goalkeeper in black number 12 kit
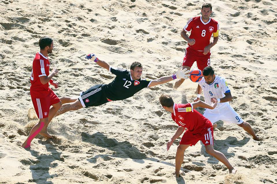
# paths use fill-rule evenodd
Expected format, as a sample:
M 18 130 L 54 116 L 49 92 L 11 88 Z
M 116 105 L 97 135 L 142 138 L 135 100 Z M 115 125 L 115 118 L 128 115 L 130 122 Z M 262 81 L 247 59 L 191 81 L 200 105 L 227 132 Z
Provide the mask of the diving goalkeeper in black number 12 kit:
M 145 87 L 153 87 L 159 84 L 173 81 L 176 78 L 188 78 L 188 70 L 179 70 L 170 76 L 163 76 L 155 80 L 141 79 L 143 66 L 140 62 L 133 62 L 130 71 L 110 66 L 105 61 L 98 59 L 94 54 L 88 54 L 86 59 L 96 62 L 102 68 L 115 74 L 115 79 L 109 84 L 98 84 L 85 92 L 81 92 L 79 97 L 62 97 L 63 105 L 56 116 L 71 110 L 100 106 L 110 101 L 123 100 L 132 97 L 135 93 Z

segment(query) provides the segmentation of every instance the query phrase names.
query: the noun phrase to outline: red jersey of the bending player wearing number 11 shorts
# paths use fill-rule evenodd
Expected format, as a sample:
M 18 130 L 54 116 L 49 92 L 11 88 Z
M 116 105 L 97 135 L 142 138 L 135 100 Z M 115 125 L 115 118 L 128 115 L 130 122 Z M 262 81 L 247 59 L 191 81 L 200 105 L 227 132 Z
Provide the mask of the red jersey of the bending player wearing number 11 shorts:
M 186 127 L 193 134 L 201 134 L 203 129 L 213 127 L 202 114 L 193 110 L 192 104 L 174 104 L 172 119 L 181 127 Z

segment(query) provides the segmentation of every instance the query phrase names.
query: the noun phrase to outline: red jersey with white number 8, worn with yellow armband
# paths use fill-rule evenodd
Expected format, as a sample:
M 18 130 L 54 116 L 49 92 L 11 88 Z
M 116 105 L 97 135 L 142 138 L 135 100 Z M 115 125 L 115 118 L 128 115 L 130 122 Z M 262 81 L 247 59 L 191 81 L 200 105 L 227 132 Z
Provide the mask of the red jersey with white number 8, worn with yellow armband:
M 219 30 L 218 22 L 212 18 L 209 18 L 207 23 L 203 22 L 202 17 L 191 18 L 184 30 L 190 33 L 190 39 L 195 40 L 194 45 L 189 45 L 194 50 L 204 51 L 204 48 L 210 44 L 212 33 L 216 33 Z

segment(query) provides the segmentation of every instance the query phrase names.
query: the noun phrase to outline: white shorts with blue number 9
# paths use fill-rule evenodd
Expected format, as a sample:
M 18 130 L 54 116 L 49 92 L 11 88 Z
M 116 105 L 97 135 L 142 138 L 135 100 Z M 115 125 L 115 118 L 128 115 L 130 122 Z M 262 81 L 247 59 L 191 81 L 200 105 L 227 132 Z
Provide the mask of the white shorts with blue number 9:
M 219 120 L 222 120 L 226 124 L 241 124 L 243 122 L 243 119 L 235 112 L 230 104 L 226 104 L 220 108 L 206 109 L 203 112 L 203 116 L 209 119 L 212 124 Z

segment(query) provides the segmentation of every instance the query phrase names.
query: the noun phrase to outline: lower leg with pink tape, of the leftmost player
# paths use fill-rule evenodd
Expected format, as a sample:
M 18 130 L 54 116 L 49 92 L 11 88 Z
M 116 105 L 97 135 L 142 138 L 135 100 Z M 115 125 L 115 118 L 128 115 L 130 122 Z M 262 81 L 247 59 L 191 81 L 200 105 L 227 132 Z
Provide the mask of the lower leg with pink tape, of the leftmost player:
M 23 147 L 23 148 L 30 147 L 31 141 L 35 138 L 36 135 L 38 135 L 38 133 L 40 133 L 40 131 L 42 130 L 42 128 L 44 127 L 44 125 L 47 121 L 48 121 L 48 118 L 40 119 L 39 122 L 37 124 L 35 124 L 35 126 L 33 126 L 27 139 L 24 141 L 24 143 L 21 145 L 21 147 Z

